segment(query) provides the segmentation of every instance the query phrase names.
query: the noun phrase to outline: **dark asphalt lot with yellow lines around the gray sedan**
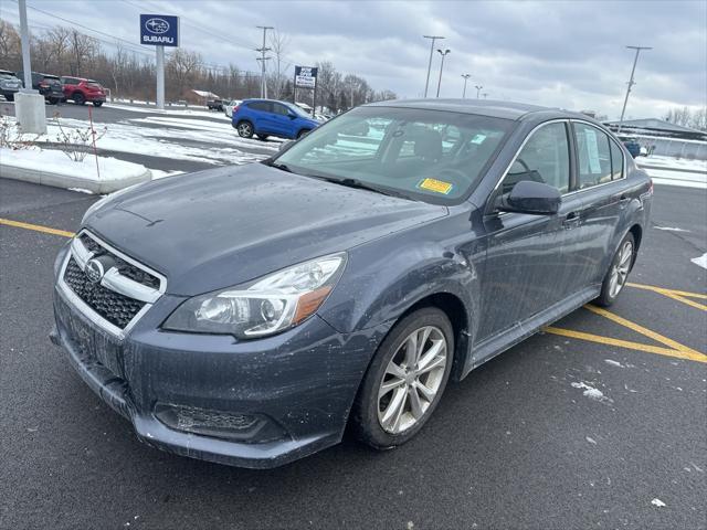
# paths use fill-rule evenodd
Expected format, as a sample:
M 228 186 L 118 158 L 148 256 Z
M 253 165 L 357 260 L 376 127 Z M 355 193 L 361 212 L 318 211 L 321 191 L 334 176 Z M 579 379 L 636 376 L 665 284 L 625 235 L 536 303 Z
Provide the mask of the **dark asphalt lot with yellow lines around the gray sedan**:
M 140 444 L 50 343 L 52 263 L 95 200 L 0 179 L 1 528 L 707 527 L 707 192 L 656 187 L 615 306 L 451 385 L 405 446 L 265 471 Z

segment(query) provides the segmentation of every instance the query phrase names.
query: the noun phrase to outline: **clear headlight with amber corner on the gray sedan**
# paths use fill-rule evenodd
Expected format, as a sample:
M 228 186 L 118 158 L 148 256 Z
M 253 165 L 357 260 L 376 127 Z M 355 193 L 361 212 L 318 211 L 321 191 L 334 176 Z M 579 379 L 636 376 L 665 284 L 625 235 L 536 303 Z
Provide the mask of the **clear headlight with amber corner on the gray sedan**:
M 346 254 L 312 259 L 270 274 L 246 287 L 231 287 L 184 301 L 163 329 L 264 337 L 315 314 L 341 275 Z

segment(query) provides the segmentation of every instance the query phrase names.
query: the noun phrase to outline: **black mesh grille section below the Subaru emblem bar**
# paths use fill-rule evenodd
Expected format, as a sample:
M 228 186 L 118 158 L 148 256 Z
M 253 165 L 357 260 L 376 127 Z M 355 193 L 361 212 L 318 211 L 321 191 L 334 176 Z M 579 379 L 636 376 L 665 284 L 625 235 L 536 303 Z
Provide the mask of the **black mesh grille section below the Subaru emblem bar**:
M 145 306 L 144 301 L 91 282 L 73 257 L 70 257 L 66 264 L 64 282 L 88 307 L 120 329 L 125 328 Z

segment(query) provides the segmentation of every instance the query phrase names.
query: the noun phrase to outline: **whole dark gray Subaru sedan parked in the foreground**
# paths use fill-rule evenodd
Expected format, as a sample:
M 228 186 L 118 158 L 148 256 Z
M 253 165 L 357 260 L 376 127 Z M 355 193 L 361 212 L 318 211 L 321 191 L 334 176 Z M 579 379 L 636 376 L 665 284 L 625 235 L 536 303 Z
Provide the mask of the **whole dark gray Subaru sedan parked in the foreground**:
M 52 340 L 154 447 L 245 467 L 347 427 L 393 447 L 450 380 L 611 305 L 652 195 L 583 115 L 366 105 L 262 163 L 96 202 L 56 259 Z

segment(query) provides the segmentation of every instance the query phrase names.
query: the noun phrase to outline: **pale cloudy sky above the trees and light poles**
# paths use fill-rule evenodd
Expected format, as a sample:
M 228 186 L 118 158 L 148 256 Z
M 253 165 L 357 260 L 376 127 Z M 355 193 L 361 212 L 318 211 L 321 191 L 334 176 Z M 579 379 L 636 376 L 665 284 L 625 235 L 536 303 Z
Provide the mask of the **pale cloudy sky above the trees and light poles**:
M 107 51 L 124 39 L 144 53 L 152 51 L 139 45 L 138 14 L 176 14 L 182 47 L 209 63 L 249 71 L 258 70 L 256 26 L 271 25 L 288 39 L 286 65 L 331 61 L 338 71 L 405 98 L 424 93 L 430 41 L 423 35 L 443 35 L 435 47 L 451 52 L 441 97 L 461 97 L 462 74 L 468 73 L 467 97 L 478 92 L 489 99 L 597 110 L 610 119 L 621 114 L 634 59 L 625 46 L 652 46 L 639 59 L 626 117 L 707 105 L 705 0 L 28 0 L 28 6 L 31 31 L 77 23 L 101 32 L 86 31 L 106 41 Z M 14 0 L 0 2 L 0 18 L 18 23 Z M 432 96 L 439 74 L 435 51 Z

